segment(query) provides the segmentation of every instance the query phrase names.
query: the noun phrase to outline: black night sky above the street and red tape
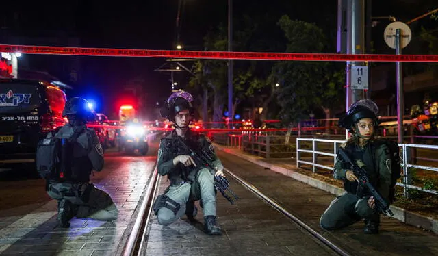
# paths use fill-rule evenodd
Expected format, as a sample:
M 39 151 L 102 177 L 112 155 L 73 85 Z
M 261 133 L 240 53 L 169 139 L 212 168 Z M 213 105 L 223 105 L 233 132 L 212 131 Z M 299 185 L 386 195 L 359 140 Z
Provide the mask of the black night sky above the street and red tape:
M 227 0 L 185 0 L 181 11 L 181 42 L 188 50 L 203 50 L 203 36 L 219 23 L 227 25 Z M 396 16 L 407 21 L 437 8 L 432 0 L 373 1 L 373 16 Z M 5 21 L 19 20 L 21 34 L 62 30 L 78 36 L 81 47 L 175 49 L 178 0 L 156 1 L 8 1 L 2 3 Z M 336 19 L 337 1 L 234 0 L 234 16 L 263 13 L 316 22 Z M 10 10 L 10 12 L 8 11 Z M 407 12 L 409 10 L 409 12 Z M 1 21 L 0 21 L 1 22 Z M 336 24 L 336 21 L 333 21 Z M 5 27 L 5 24 L 2 24 Z M 324 24 L 321 24 L 322 26 Z M 11 27 L 11 24 L 7 24 Z M 381 26 L 381 33 L 385 26 Z M 379 28 L 373 33 L 379 33 Z M 336 33 L 336 27 L 333 27 Z M 373 35 L 374 36 L 374 35 Z M 383 35 L 381 36 L 383 38 Z M 382 40 L 383 41 L 383 40 Z M 389 50 L 389 49 L 388 49 Z M 83 84 L 72 94 L 101 94 L 107 101 L 117 97 L 125 81 L 142 77 L 156 97 L 170 94 L 170 75 L 154 71 L 164 59 L 133 57 L 81 57 Z M 184 76 L 179 84 L 186 84 Z M 105 104 L 111 104 L 105 102 Z

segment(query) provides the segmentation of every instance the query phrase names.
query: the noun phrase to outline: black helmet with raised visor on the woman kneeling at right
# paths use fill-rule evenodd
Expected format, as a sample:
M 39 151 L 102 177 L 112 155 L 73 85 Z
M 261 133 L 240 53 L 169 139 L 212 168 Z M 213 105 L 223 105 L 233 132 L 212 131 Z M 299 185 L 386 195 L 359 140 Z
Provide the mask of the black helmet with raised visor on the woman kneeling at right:
M 374 127 L 378 126 L 378 107 L 374 101 L 370 99 L 361 99 L 350 106 L 346 114 L 339 118 L 339 127 L 352 131 L 355 123 L 363 118 L 371 118 L 374 120 Z

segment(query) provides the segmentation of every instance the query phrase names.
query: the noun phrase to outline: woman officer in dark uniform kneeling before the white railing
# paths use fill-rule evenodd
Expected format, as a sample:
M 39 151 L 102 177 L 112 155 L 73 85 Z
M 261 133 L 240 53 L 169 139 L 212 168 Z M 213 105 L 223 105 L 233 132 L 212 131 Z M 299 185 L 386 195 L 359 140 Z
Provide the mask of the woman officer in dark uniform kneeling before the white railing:
M 353 162 L 361 159 L 374 188 L 386 201 L 391 186 L 391 159 L 385 144 L 377 144 L 374 131 L 378 126 L 377 105 L 370 99 L 353 104 L 339 119 L 339 126 L 352 133 L 352 137 L 342 145 Z M 320 219 L 323 229 L 342 229 L 348 225 L 365 220 L 364 233 L 378 233 L 380 214 L 376 212 L 374 198 L 366 190 L 361 190 L 357 177 L 337 158 L 333 169 L 335 179 L 344 181 L 346 192 L 331 202 Z

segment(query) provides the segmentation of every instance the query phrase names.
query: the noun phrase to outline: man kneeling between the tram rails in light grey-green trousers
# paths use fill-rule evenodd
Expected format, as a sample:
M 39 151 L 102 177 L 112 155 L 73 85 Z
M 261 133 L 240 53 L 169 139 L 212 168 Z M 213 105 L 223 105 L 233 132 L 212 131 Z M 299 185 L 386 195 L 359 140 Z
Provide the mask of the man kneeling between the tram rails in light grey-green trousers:
M 197 209 L 194 201 L 201 200 L 204 213 L 204 229 L 209 235 L 221 235 L 216 222 L 216 191 L 214 175 L 223 175 L 223 166 L 209 140 L 201 133 L 189 128 L 192 116 L 192 95 L 188 92 L 175 92 L 161 110 L 164 118 L 175 123 L 175 129 L 162 138 L 159 144 L 157 168 L 160 175 L 167 175 L 170 186 L 164 194 L 157 196 L 154 211 L 160 225 L 169 225 L 186 214 L 194 220 Z M 179 146 L 181 140 L 195 152 L 209 151 L 210 166 L 197 166 L 190 152 Z

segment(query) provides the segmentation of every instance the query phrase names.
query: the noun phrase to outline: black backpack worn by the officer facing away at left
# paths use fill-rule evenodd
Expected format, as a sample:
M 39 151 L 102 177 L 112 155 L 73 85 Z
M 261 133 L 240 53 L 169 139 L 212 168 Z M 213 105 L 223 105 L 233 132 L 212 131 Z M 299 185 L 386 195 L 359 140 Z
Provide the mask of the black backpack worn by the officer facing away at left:
M 70 138 L 57 138 L 52 131 L 38 142 L 36 149 L 36 170 L 46 180 L 63 182 L 71 178 L 73 165 L 73 144 L 80 132 Z

